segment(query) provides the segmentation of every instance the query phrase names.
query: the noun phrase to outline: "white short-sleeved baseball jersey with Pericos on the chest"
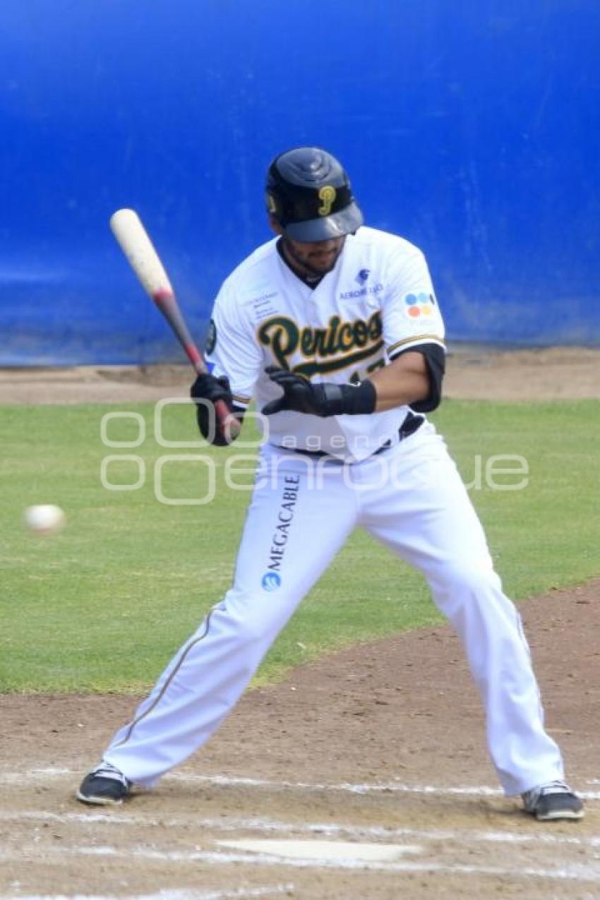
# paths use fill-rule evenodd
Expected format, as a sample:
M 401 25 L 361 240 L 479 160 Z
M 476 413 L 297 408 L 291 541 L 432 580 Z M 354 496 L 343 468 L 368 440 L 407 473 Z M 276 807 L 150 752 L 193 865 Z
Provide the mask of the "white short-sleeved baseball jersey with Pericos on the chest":
M 207 342 L 213 374 L 227 375 L 236 404 L 256 409 L 281 396 L 264 374 L 278 365 L 313 383 L 357 382 L 400 351 L 443 347 L 443 321 L 425 257 L 407 240 L 360 228 L 348 235 L 317 287 L 286 266 L 276 244 L 258 247 L 228 276 L 214 304 Z M 270 443 L 365 459 L 398 435 L 408 408 L 364 416 L 282 411 L 269 417 Z

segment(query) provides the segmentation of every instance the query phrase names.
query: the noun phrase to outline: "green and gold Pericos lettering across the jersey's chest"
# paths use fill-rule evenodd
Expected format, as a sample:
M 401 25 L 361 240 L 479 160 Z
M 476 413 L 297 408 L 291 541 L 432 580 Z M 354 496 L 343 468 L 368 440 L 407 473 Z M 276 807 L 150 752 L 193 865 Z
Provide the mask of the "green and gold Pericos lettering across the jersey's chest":
M 300 328 L 287 316 L 273 316 L 258 329 L 258 340 L 271 347 L 283 369 L 311 378 L 316 373 L 345 369 L 372 356 L 383 347 L 382 333 L 380 311 L 373 312 L 366 321 L 348 322 L 332 316 L 325 329 L 313 329 L 309 325 Z M 290 359 L 295 353 L 309 357 L 310 361 L 291 366 Z

